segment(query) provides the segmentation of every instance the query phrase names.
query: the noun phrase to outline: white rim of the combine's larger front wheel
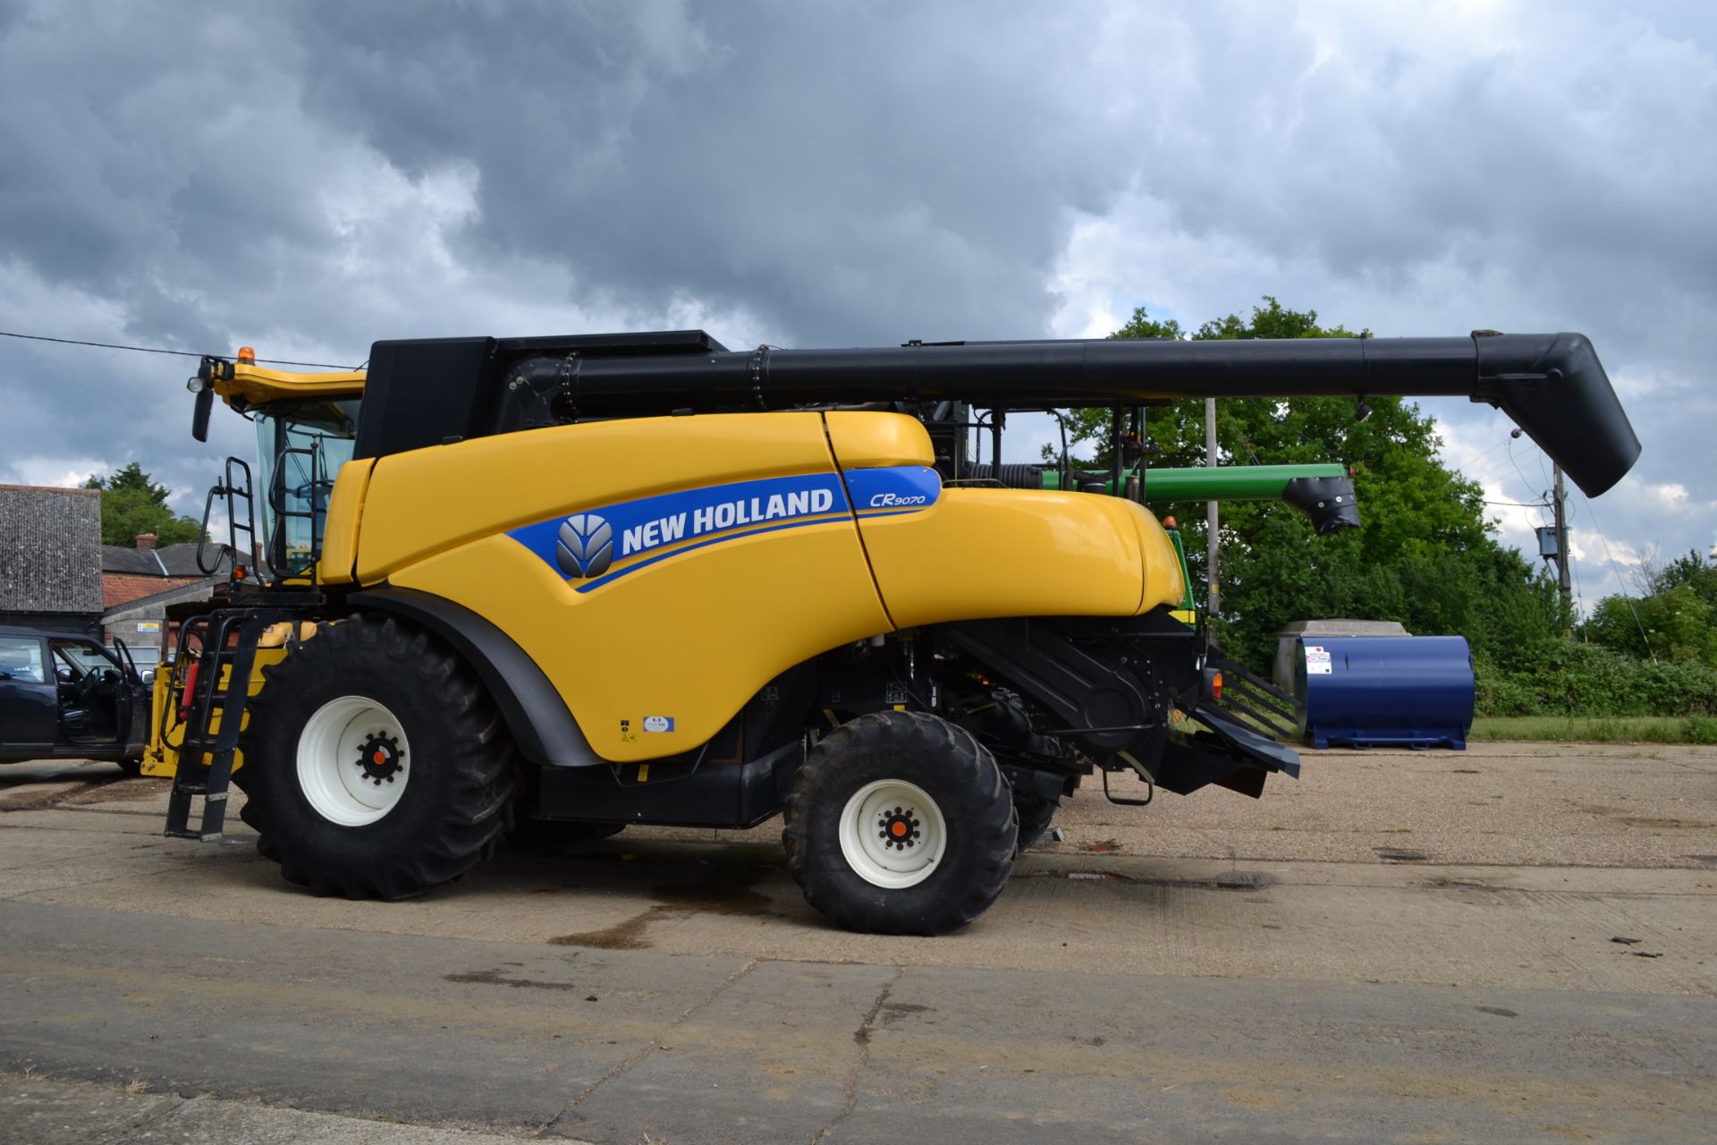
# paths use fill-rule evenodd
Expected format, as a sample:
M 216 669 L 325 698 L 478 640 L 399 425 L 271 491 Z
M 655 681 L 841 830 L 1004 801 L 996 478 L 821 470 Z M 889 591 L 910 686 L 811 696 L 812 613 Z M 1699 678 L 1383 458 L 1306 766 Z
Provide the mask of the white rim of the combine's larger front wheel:
M 328 700 L 299 733 L 299 788 L 318 815 L 342 827 L 393 810 L 414 762 L 405 728 L 367 695 Z

